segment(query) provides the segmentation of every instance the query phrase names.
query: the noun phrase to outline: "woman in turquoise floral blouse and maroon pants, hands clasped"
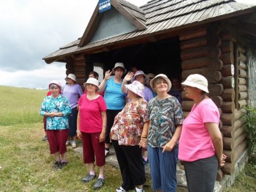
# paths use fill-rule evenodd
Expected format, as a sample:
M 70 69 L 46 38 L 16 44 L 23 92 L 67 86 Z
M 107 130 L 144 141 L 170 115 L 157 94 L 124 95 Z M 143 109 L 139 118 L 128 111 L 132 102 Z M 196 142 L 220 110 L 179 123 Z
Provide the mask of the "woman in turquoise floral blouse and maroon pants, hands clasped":
M 62 169 L 67 165 L 68 114 L 71 107 L 67 97 L 59 92 L 61 85 L 58 81 L 49 84 L 51 95 L 44 98 L 40 114 L 46 116 L 46 131 L 51 154 L 55 156 L 52 170 Z

